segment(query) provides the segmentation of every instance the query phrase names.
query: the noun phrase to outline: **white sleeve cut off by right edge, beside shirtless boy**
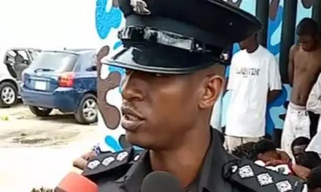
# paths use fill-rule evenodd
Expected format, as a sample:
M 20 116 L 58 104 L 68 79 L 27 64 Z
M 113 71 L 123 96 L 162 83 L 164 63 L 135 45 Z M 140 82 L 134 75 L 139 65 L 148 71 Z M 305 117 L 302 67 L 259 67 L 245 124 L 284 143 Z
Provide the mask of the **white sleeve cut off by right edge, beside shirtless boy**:
M 313 85 L 306 102 L 306 108 L 313 113 L 321 114 L 321 75 Z

